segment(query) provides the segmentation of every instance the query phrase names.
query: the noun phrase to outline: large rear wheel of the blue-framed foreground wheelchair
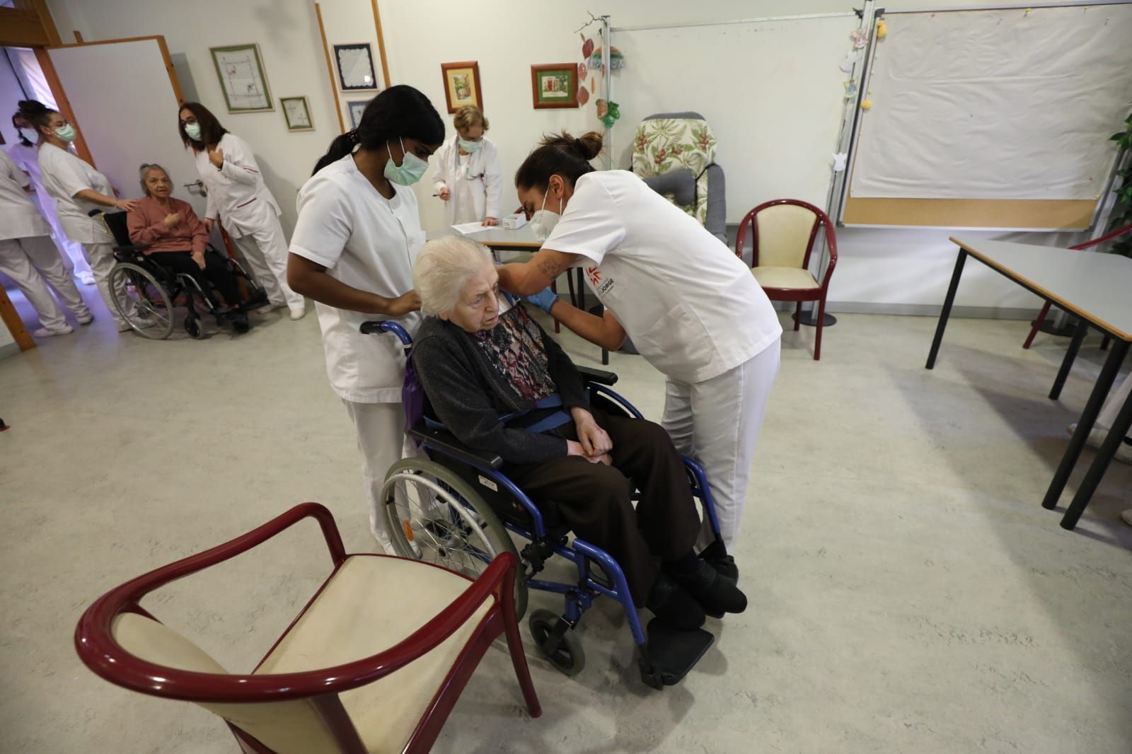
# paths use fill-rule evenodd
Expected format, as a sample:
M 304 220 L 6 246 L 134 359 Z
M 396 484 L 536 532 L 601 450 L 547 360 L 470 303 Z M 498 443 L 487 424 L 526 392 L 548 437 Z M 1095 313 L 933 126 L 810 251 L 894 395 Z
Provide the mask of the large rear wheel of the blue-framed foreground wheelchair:
M 515 612 L 523 617 L 526 583 L 515 543 L 491 506 L 455 472 L 429 459 L 402 459 L 385 474 L 381 502 L 401 557 L 475 579 L 500 552 L 514 555 Z

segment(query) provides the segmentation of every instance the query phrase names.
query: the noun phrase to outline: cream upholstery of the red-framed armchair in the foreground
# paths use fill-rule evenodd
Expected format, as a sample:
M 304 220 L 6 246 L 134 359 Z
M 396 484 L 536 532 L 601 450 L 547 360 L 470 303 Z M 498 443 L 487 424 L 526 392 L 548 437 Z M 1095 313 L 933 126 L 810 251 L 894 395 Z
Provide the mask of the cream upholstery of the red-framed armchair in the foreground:
M 470 584 L 448 571 L 411 560 L 351 556 L 256 674 L 318 670 L 377 654 L 444 611 Z M 487 600 L 469 622 L 417 661 L 340 695 L 366 751 L 402 751 L 491 605 Z M 188 639 L 140 615 L 118 616 L 112 631 L 126 650 L 144 660 L 181 670 L 226 672 Z M 280 754 L 340 751 L 329 729 L 303 700 L 201 706 Z

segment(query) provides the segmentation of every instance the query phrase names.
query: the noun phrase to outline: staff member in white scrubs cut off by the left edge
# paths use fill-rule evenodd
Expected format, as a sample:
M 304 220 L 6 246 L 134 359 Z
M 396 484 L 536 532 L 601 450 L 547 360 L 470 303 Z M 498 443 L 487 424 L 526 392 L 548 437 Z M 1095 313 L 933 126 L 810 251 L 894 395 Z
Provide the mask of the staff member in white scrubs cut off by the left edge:
M 59 249 L 51 240 L 51 225 L 27 196 L 29 182 L 11 157 L 0 151 L 0 272 L 11 277 L 35 311 L 43 327 L 36 337 L 75 332 L 62 309 L 48 292 L 46 280 L 80 325 L 94 315 L 83 303 L 75 280 L 67 274 Z

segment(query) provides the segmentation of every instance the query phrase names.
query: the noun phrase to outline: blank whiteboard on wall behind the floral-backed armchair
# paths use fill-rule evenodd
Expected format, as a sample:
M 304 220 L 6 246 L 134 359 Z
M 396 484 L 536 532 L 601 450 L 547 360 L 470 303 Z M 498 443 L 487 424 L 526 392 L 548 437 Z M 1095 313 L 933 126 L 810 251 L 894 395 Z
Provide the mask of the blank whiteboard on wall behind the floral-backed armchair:
M 824 207 L 847 79 L 839 66 L 859 25 L 837 17 L 614 29 L 626 67 L 614 75 L 620 105 L 614 164 L 628 168 L 640 122 L 692 110 L 715 131 L 727 182 L 727 221 L 783 197 Z

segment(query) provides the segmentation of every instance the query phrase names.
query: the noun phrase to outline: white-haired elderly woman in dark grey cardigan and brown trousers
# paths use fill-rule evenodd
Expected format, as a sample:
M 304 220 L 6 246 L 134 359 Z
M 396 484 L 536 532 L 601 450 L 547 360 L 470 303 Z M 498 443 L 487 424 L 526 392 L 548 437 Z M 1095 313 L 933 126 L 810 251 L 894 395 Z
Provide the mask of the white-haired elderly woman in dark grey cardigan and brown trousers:
M 668 434 L 590 406 L 569 357 L 523 305 L 500 295 L 484 247 L 455 235 L 430 241 L 413 281 L 430 315 L 413 362 L 438 420 L 462 443 L 497 453 L 533 500 L 552 499 L 578 537 L 612 555 L 637 607 L 685 629 L 705 612 L 746 608 L 735 583 L 695 555 L 697 507 Z M 552 395 L 560 408 L 547 406 Z M 517 412 L 526 413 L 500 419 Z M 558 412 L 559 426 L 524 429 Z

